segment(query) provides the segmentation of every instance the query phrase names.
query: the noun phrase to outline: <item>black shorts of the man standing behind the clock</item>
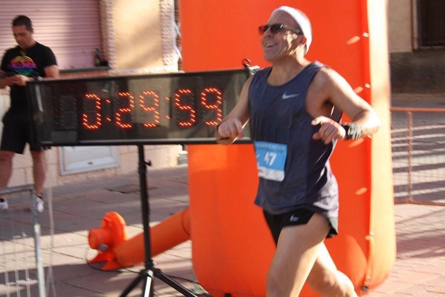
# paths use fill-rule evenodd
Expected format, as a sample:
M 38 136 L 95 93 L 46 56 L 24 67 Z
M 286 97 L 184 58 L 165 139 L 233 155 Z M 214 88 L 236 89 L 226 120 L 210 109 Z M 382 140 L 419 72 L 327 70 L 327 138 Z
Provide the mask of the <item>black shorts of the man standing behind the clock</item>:
M 3 133 L 0 151 L 10 151 L 23 154 L 26 142 L 29 143 L 31 127 L 26 113 L 8 111 L 3 117 Z M 42 146 L 29 143 L 29 150 L 41 152 Z

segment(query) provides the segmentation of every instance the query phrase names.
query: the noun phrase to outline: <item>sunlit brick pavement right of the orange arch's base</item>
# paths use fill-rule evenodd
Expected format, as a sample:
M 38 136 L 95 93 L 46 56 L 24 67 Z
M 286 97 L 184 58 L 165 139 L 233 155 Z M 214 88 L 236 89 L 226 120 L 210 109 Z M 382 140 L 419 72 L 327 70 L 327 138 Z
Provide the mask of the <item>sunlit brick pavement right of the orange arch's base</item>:
M 397 259 L 371 294 L 445 296 L 445 206 L 395 205 Z

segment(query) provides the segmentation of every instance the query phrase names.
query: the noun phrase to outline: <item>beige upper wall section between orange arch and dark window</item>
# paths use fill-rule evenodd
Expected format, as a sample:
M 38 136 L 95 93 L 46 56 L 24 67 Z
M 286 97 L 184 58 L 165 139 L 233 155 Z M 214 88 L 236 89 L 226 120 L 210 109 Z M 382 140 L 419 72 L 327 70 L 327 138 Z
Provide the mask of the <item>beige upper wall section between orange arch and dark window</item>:
M 388 0 L 390 52 L 412 51 L 412 0 Z

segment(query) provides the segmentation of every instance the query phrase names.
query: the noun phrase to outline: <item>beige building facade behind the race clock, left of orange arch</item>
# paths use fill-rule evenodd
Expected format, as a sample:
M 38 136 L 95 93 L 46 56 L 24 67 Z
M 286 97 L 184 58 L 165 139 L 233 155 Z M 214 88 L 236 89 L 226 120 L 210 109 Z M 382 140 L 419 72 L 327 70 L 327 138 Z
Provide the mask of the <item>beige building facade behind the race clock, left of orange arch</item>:
M 29 2 L 29 0 L 18 2 L 21 1 Z M 28 4 L 38 6 L 39 1 Z M 179 29 L 175 23 L 174 0 L 91 0 L 91 5 L 99 6 L 101 52 L 109 67 L 97 69 L 94 69 L 93 65 L 65 67 L 66 69 L 61 67 L 62 77 L 177 71 L 180 51 L 176 46 Z M 9 11 L 14 9 L 11 17 L 4 17 L 9 19 L 10 24 L 15 15 L 28 15 L 38 30 L 36 23 L 40 16 L 35 15 L 33 18 L 33 13 L 37 13 L 37 10 L 29 10 L 26 7 L 29 6 L 14 5 L 9 8 Z M 45 4 L 42 3 L 39 13 L 44 12 L 44 9 Z M 59 17 L 63 18 L 63 14 L 61 13 Z M 45 33 L 51 34 L 51 29 L 46 27 Z M 54 26 L 54 32 L 57 29 L 57 26 Z M 10 26 L 6 32 L 10 32 Z M 35 37 L 39 41 L 38 34 Z M 45 45 L 51 47 L 51 44 Z M 3 117 L 8 110 L 9 101 L 8 88 L 0 90 L 0 116 Z M 0 131 L 2 129 L 3 124 L 0 123 Z M 144 151 L 146 160 L 152 161 L 153 168 L 175 166 L 183 154 L 181 145 L 144 145 Z M 130 145 L 52 147 L 46 152 L 46 160 L 46 188 L 137 172 L 138 168 L 137 146 Z M 27 147 L 23 156 L 15 156 L 13 167 L 9 186 L 33 183 L 32 158 Z

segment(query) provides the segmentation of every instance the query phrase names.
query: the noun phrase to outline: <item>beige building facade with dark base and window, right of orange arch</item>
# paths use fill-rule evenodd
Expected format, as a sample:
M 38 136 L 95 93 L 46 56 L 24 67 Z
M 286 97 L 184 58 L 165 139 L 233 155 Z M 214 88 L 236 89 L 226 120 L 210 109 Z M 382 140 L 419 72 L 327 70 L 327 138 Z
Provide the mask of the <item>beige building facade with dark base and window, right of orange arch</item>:
M 387 0 L 393 94 L 445 94 L 445 1 Z

